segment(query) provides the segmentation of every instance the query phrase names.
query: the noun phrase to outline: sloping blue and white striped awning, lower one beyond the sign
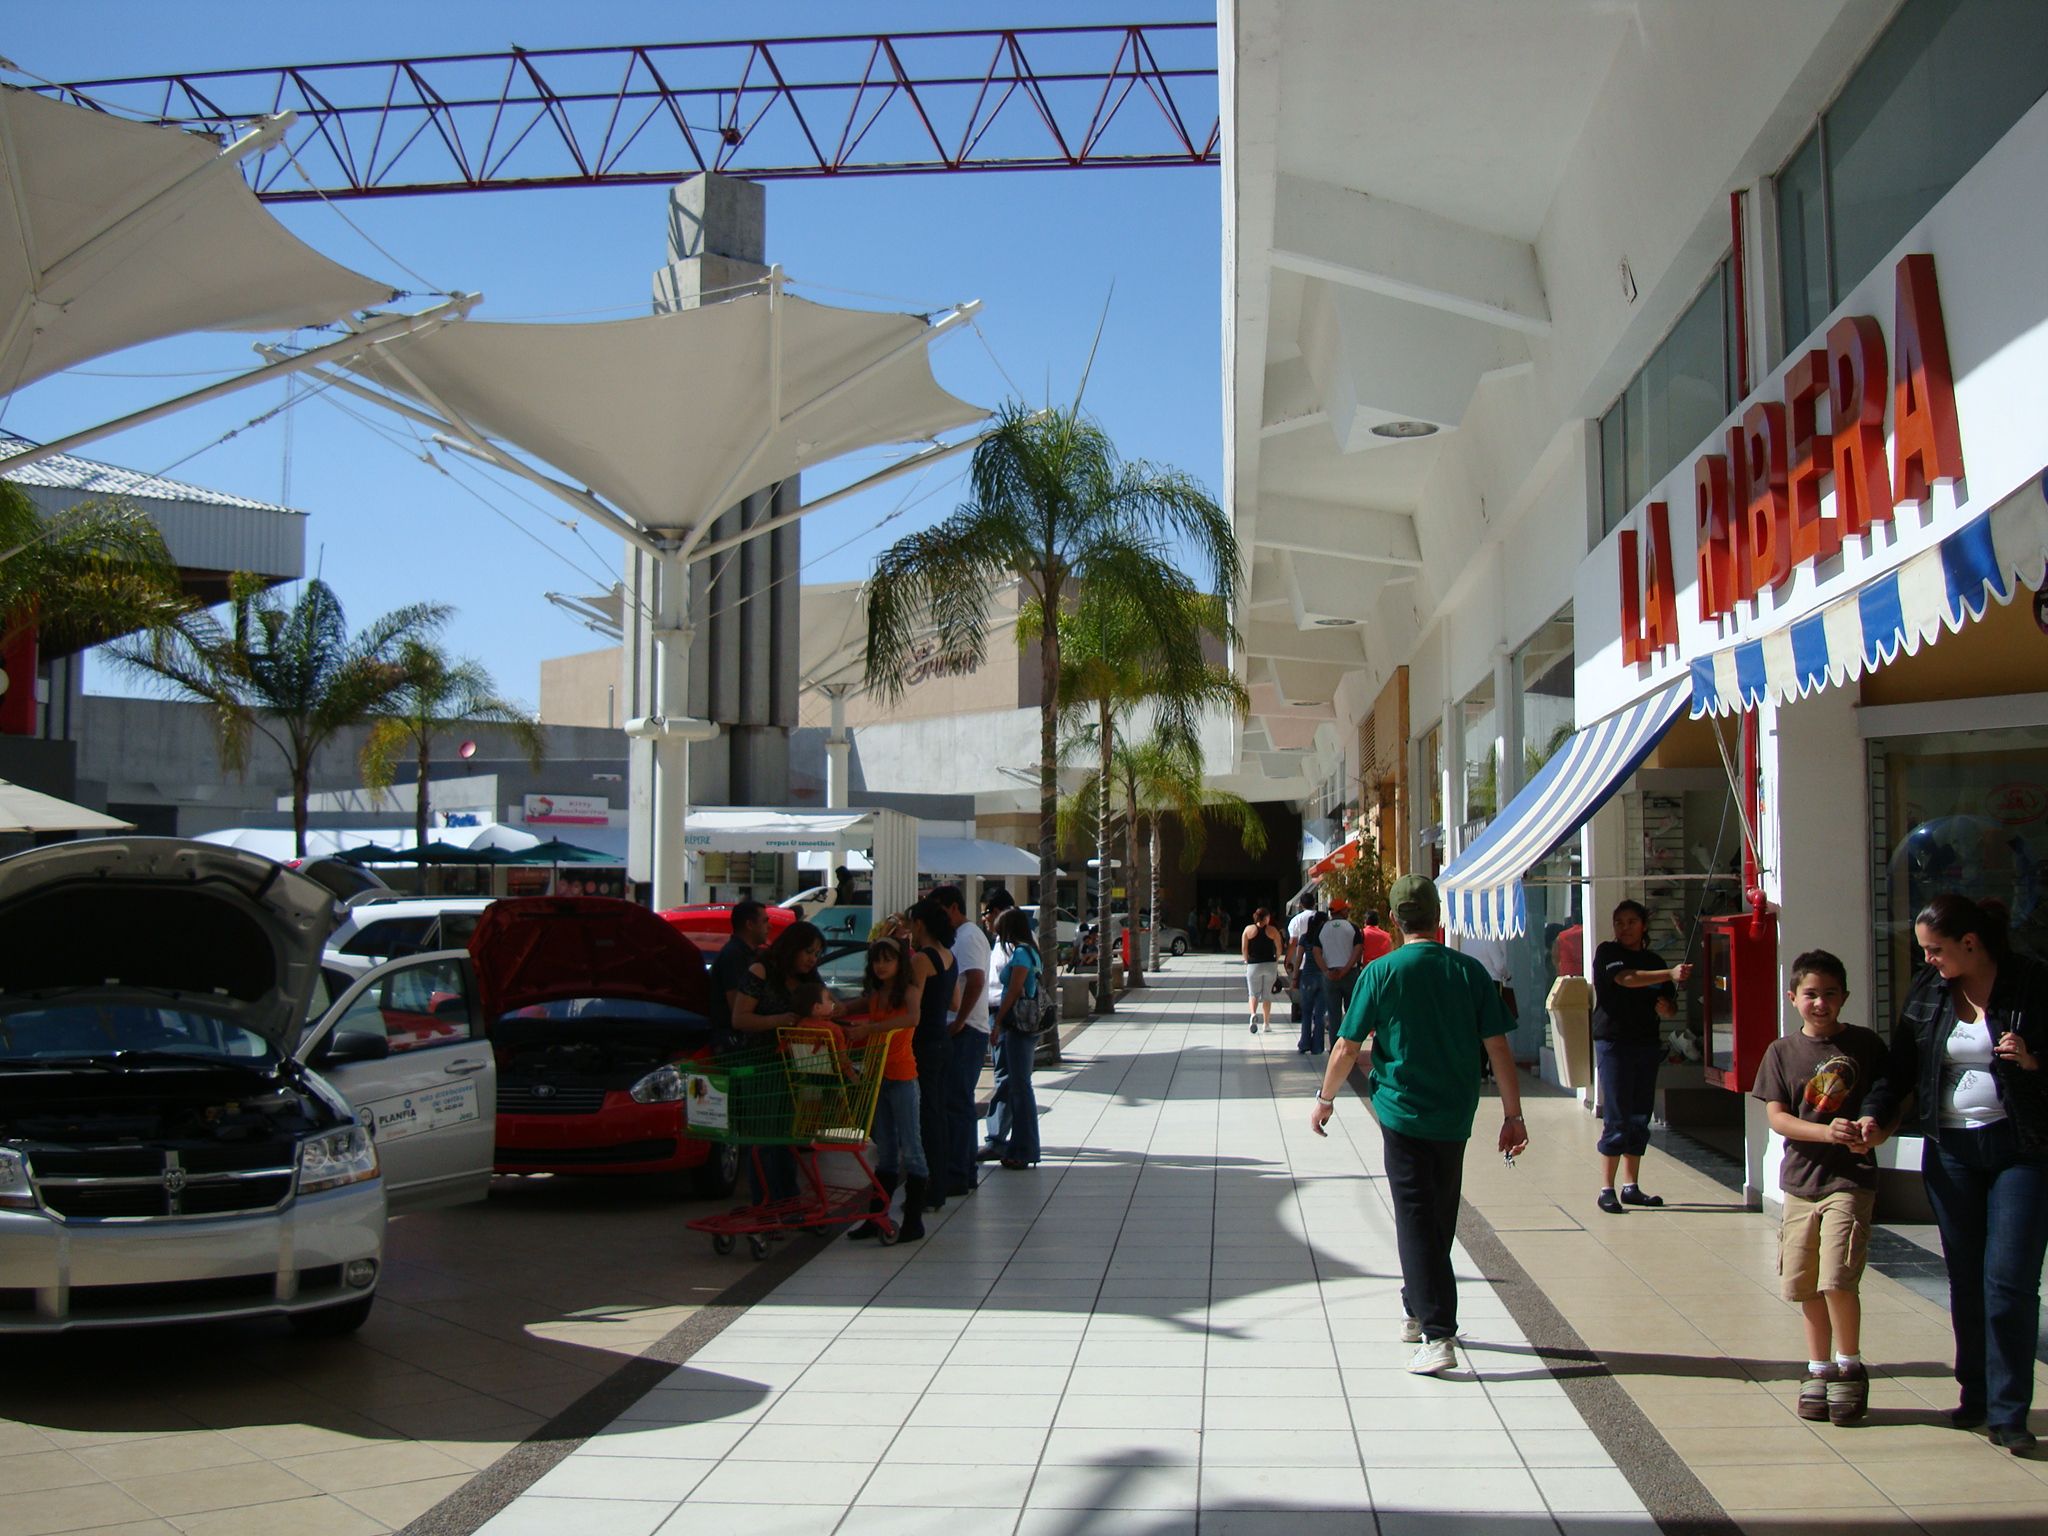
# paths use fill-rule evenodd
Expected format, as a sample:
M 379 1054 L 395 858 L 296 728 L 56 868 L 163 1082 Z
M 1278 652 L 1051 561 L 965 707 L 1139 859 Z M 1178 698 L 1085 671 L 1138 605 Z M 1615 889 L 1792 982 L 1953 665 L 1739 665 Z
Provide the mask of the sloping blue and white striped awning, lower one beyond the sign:
M 1686 707 L 1690 680 L 1577 731 L 1552 754 L 1485 834 L 1436 877 L 1454 934 L 1513 938 L 1528 924 L 1522 877 L 1585 825 L 1642 766 Z

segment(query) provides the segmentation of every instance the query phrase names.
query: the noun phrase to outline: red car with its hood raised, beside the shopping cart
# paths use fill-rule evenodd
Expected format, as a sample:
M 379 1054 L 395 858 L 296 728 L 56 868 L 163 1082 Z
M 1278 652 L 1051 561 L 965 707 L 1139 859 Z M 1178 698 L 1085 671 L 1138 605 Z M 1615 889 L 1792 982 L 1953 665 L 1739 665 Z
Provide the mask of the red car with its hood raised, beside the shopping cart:
M 524 897 L 483 913 L 469 954 L 500 1174 L 682 1174 L 694 1194 L 731 1194 L 739 1149 L 684 1130 L 680 1067 L 719 1047 L 686 928 L 612 897 Z

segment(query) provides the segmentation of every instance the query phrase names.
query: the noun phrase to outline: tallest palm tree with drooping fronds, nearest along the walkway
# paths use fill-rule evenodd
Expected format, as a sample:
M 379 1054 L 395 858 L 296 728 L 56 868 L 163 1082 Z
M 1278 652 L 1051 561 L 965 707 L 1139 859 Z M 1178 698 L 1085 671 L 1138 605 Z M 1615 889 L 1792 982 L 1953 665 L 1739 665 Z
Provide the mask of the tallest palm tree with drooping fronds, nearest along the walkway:
M 868 580 L 866 678 L 885 700 L 903 696 L 928 631 L 940 666 L 979 666 L 991 594 L 1008 582 L 1022 586 L 1024 610 L 1036 614 L 1040 934 L 1059 922 L 1059 625 L 1044 618 L 1087 588 L 1180 602 L 1180 588 L 1159 575 L 1176 565 L 1200 567 L 1225 608 L 1235 606 L 1237 535 L 1208 492 L 1182 471 L 1124 463 L 1079 406 L 1012 403 L 975 449 L 969 500 L 885 549 Z M 1171 612 L 1159 618 L 1174 623 Z M 1049 1001 L 1057 1022 L 1057 993 Z

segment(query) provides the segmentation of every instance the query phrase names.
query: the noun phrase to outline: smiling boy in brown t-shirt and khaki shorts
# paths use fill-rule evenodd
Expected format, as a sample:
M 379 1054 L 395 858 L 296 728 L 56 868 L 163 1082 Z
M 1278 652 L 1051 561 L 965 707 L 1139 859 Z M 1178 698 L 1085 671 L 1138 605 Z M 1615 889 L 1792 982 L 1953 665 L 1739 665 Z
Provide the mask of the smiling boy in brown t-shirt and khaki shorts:
M 1806 950 L 1792 961 L 1786 997 L 1800 1030 L 1772 1040 L 1753 1090 L 1767 1106 L 1772 1130 L 1786 1139 L 1778 1280 L 1784 1298 L 1806 1315 L 1798 1415 L 1849 1423 L 1870 1407 L 1864 1307 L 1855 1288 L 1878 1198 L 1872 1149 L 1882 1141 L 1862 1108 L 1888 1055 L 1874 1030 L 1841 1022 L 1849 971 L 1827 950 Z

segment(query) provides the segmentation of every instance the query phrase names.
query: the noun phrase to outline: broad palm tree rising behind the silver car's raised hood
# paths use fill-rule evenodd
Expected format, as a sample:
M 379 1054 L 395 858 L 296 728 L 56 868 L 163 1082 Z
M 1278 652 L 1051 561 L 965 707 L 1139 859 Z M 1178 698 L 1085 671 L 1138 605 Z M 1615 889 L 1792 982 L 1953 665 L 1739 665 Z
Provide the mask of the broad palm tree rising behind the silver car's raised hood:
M 168 694 L 213 711 L 223 768 L 248 770 L 256 735 L 279 750 L 291 774 L 291 829 L 305 858 L 313 758 L 397 694 L 406 682 L 401 647 L 432 635 L 451 612 L 416 602 L 350 635 L 342 600 L 326 582 L 307 582 L 285 606 L 260 578 L 238 571 L 227 584 L 227 623 L 199 612 L 178 629 L 123 641 L 113 655 Z

